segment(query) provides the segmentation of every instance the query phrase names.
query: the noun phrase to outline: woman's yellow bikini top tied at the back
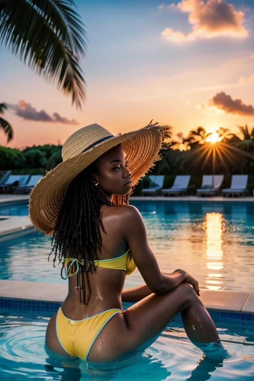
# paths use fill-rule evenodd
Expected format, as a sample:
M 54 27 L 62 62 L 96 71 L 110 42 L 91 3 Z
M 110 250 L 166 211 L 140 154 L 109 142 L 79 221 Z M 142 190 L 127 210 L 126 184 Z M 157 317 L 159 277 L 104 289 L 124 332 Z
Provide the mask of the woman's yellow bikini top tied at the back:
M 79 264 L 84 265 L 84 259 L 65 258 L 64 266 L 61 270 L 62 278 L 66 279 L 71 275 L 77 274 L 80 267 Z M 132 274 L 136 268 L 134 259 L 132 258 L 129 249 L 125 254 L 117 256 L 116 258 L 95 260 L 94 265 L 97 267 L 124 270 L 126 271 L 126 275 Z M 65 271 L 65 277 L 63 276 L 63 270 Z

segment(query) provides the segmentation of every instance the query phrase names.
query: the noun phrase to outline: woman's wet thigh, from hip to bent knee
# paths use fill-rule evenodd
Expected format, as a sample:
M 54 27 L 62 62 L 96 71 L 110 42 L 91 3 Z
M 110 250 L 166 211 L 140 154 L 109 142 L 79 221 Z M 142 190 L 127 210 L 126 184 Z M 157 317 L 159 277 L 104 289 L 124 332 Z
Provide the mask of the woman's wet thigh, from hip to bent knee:
M 115 315 L 96 338 L 88 356 L 90 361 L 114 361 L 127 353 L 149 346 L 169 321 L 198 296 L 187 282 L 163 295 L 151 294 L 123 314 Z M 199 301 L 200 302 L 200 301 Z

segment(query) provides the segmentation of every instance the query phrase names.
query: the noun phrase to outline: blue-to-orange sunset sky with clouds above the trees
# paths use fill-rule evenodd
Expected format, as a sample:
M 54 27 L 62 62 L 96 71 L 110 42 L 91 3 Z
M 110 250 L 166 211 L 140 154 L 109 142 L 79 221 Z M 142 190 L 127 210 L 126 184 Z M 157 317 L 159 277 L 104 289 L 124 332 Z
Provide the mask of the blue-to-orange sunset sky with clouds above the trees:
M 0 50 L 3 115 L 14 129 L 6 144 L 63 144 L 98 123 L 112 133 L 151 119 L 187 135 L 254 126 L 253 0 L 76 0 L 88 37 L 80 63 L 86 81 L 82 110 L 71 106 L 10 52 Z

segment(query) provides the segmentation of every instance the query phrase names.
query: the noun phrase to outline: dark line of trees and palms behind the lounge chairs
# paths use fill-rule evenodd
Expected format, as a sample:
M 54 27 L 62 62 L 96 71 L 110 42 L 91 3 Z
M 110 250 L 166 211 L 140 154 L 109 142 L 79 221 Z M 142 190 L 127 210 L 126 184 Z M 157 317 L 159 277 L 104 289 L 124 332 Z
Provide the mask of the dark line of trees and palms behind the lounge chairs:
M 254 173 L 254 127 L 239 126 L 239 133 L 228 129 L 217 130 L 219 141 L 207 141 L 210 133 L 203 127 L 172 137 L 172 127 L 167 127 L 167 137 L 160 151 L 162 160 L 156 162 L 151 174 L 157 175 L 210 175 Z M 33 145 L 24 149 L 0 146 L 0 170 L 37 169 L 44 174 L 62 162 L 61 145 Z

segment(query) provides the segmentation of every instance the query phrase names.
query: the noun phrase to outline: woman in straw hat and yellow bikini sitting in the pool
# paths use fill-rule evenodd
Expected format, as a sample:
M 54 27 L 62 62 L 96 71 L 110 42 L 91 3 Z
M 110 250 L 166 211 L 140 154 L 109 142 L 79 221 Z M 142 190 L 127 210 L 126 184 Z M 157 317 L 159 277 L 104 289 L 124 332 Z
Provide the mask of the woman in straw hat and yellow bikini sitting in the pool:
M 63 264 L 69 282 L 47 327 L 50 350 L 119 360 L 150 345 L 179 312 L 193 343 L 219 346 L 198 282 L 181 269 L 160 271 L 142 217 L 128 204 L 131 187 L 160 159 L 165 133 L 157 124 L 118 136 L 98 125 L 81 128 L 64 143 L 64 162 L 32 191 L 30 218 L 53 236 L 54 264 Z M 123 290 L 135 267 L 145 285 Z M 137 303 L 123 311 L 123 301 Z

